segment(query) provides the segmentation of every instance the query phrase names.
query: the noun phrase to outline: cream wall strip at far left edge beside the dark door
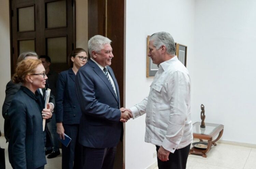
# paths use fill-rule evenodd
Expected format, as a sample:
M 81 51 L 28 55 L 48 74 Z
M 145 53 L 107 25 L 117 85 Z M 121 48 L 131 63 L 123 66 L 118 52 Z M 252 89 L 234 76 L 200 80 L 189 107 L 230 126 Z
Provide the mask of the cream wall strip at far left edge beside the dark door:
M 2 105 L 5 97 L 5 86 L 11 78 L 9 1 L 6 0 L 0 0 L 0 37 L 0 130 L 3 133 Z

